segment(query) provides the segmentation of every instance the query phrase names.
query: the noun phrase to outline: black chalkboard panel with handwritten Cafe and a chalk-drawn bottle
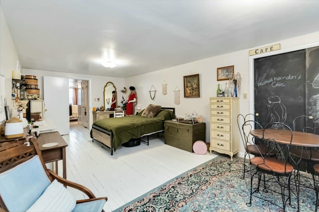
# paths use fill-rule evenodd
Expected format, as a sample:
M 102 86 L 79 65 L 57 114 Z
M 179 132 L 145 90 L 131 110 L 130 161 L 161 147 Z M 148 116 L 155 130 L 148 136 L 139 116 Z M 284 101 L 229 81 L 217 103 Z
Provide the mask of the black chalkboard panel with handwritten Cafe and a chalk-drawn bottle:
M 255 59 L 254 83 L 257 121 L 293 128 L 293 119 L 306 115 L 306 50 Z

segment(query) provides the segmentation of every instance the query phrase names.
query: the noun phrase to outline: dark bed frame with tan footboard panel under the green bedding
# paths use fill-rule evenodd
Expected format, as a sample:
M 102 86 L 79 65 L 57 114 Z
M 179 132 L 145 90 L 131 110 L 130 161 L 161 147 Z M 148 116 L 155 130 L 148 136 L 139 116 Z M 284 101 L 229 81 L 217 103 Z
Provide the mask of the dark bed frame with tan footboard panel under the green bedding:
M 171 110 L 175 114 L 175 108 L 162 107 L 161 109 Z M 164 130 L 157 131 L 157 132 L 154 132 L 154 133 L 151 133 L 151 134 L 147 134 L 147 135 L 143 135 L 143 136 L 140 137 L 140 139 L 142 137 L 144 137 L 144 136 L 147 136 L 148 141 L 147 142 L 143 141 L 143 142 L 146 142 L 149 145 L 149 136 L 151 136 L 153 134 L 159 134 L 159 133 L 162 133 L 162 132 L 164 132 Z M 92 125 L 92 135 L 91 135 L 91 137 L 92 137 L 92 142 L 97 141 L 97 142 L 103 144 L 102 147 L 105 145 L 108 148 L 110 148 L 111 149 L 111 155 L 113 155 L 113 142 L 112 142 L 113 135 L 112 135 L 112 132 L 107 131 L 107 130 L 105 130 L 103 128 L 100 128 L 98 126 Z

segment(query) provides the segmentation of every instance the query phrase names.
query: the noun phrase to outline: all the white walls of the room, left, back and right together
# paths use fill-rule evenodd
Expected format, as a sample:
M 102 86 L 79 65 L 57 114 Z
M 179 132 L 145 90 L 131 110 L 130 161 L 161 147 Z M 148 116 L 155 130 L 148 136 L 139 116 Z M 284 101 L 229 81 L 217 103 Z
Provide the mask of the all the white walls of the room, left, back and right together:
M 280 43 L 282 50 L 288 50 L 303 45 L 319 42 L 319 32 L 307 34 L 300 37 L 295 37 L 283 41 L 273 42 L 272 44 Z M 271 44 L 265 44 L 268 46 Z M 220 55 L 200 61 L 195 61 L 188 64 L 183 64 L 168 69 L 155 71 L 151 73 L 141 74 L 138 76 L 129 77 L 126 79 L 90 76 L 81 74 L 69 74 L 63 72 L 52 71 L 40 71 L 40 70 L 28 70 L 23 69 L 23 74 L 36 75 L 40 88 L 42 87 L 42 76 L 60 76 L 76 79 L 90 80 L 90 107 L 100 107 L 103 102 L 103 88 L 106 82 L 112 81 L 118 90 L 118 99 L 122 97 L 120 92 L 123 87 L 135 86 L 138 93 L 138 104 L 145 108 L 148 104 L 159 104 L 163 107 L 175 107 L 176 115 L 183 116 L 186 112 L 196 111 L 199 115 L 203 116 L 203 121 L 206 123 L 206 141 L 209 141 L 209 101 L 208 98 L 216 96 L 217 84 L 224 84 L 225 81 L 216 80 L 216 69 L 218 67 L 235 66 L 235 72 L 240 72 L 242 76 L 242 87 L 239 90 L 240 97 L 240 113 L 249 113 L 249 107 L 252 104 L 252 97 L 250 90 L 253 91 L 253 82 L 249 80 L 251 74 L 251 66 L 249 66 L 248 52 L 251 49 L 258 47 L 245 49 L 238 52 L 233 52 L 225 55 Z M 265 54 L 266 55 L 266 54 Z M 264 57 L 265 55 L 260 55 Z M 11 71 L 16 67 L 16 61 L 18 59 L 14 43 L 10 36 L 10 32 L 6 25 L 5 19 L 0 9 L 0 74 L 6 78 L 6 93 L 7 99 L 11 97 Z M 21 65 L 23 67 L 23 64 Z M 200 77 L 200 98 L 184 98 L 183 97 L 183 76 L 199 73 Z M 167 94 L 161 94 L 161 84 L 163 81 L 167 83 Z M 151 100 L 149 90 L 155 86 L 157 89 L 156 97 Z M 174 104 L 173 90 L 178 86 L 180 90 L 180 104 Z M 248 93 L 248 99 L 243 99 L 242 94 Z M 42 94 L 43 95 L 43 94 Z M 128 92 L 124 94 L 124 98 L 127 98 Z M 100 98 L 100 102 L 94 102 L 94 98 Z M 8 101 L 10 107 L 12 103 Z M 91 109 L 90 109 L 91 110 Z M 253 111 L 252 111 L 253 112 Z M 92 118 L 90 120 L 92 123 Z M 240 153 L 244 152 L 244 147 L 240 146 Z

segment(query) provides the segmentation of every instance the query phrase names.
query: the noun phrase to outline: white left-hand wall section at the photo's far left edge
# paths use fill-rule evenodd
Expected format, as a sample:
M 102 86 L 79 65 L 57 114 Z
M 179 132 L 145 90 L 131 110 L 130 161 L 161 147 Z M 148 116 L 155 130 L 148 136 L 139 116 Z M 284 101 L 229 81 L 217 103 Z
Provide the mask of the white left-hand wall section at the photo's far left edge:
M 5 77 L 6 101 L 11 110 L 12 70 L 16 70 L 17 60 L 18 55 L 0 6 L 0 74 Z

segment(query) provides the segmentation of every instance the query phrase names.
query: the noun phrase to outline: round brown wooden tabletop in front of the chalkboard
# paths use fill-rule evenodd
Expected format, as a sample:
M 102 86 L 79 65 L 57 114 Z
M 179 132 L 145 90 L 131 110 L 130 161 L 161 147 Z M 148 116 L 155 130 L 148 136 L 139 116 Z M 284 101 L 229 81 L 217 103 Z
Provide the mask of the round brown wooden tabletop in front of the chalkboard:
M 252 130 L 250 134 L 259 138 L 263 137 L 261 129 Z M 288 130 L 266 129 L 264 135 L 265 139 L 274 139 L 283 144 L 290 143 L 291 133 Z M 293 141 L 291 144 L 295 146 L 319 147 L 319 135 L 293 131 Z

